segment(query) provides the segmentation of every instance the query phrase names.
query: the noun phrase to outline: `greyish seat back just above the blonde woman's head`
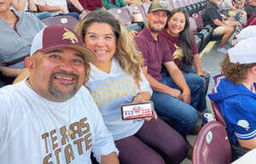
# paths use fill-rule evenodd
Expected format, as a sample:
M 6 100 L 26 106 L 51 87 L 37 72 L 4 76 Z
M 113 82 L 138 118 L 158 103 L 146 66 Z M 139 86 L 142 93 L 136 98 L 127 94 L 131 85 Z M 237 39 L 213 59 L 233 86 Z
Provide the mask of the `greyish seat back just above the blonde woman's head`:
M 121 20 L 124 25 L 131 25 L 131 17 L 127 8 L 110 8 L 108 12 Z

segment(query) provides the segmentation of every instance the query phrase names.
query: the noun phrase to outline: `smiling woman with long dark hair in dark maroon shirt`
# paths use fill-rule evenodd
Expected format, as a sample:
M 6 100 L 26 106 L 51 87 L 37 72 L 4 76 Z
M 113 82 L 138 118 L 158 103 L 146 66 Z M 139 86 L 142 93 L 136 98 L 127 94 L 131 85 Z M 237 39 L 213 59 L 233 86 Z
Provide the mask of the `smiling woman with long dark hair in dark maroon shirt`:
M 160 36 L 164 37 L 169 44 L 172 58 L 180 70 L 183 71 L 186 82 L 196 84 L 198 81 L 205 81 L 205 95 L 202 96 L 197 106 L 197 110 L 205 110 L 209 72 L 201 69 L 201 60 L 195 39 L 189 30 L 189 15 L 187 12 L 182 8 L 172 10 L 166 28 L 161 31 Z

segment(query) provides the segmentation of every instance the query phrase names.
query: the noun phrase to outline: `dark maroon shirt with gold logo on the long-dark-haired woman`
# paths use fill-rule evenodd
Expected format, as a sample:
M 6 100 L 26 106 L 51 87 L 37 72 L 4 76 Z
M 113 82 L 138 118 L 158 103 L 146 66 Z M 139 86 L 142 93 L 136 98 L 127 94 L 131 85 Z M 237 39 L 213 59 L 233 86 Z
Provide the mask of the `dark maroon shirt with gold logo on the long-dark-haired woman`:
M 166 42 L 168 43 L 171 52 L 172 52 L 172 59 L 177 66 L 181 64 L 183 59 L 183 50 L 181 48 L 180 38 L 179 37 L 172 37 L 170 34 L 167 33 L 166 29 L 160 32 L 160 37 L 163 37 Z M 192 54 L 198 54 L 195 38 L 193 38 L 193 47 L 192 47 Z

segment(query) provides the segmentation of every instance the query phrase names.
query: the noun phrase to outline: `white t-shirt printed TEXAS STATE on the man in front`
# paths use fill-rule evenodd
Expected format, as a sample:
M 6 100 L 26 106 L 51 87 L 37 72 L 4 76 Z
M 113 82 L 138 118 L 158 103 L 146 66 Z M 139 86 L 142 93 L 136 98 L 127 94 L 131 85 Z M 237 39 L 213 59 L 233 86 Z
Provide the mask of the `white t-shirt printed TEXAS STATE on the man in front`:
M 26 81 L 0 89 L 1 164 L 90 164 L 91 151 L 117 152 L 86 88 L 66 102 L 43 99 Z

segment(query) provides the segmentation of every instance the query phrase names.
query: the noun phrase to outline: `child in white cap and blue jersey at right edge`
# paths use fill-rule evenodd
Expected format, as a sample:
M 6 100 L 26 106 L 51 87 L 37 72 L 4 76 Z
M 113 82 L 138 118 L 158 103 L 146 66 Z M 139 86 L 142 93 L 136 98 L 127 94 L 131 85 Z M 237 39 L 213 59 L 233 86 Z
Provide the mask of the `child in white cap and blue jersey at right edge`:
M 208 95 L 224 116 L 235 157 L 256 148 L 255 47 L 256 37 L 250 37 L 228 50 L 222 63 L 225 78 Z

